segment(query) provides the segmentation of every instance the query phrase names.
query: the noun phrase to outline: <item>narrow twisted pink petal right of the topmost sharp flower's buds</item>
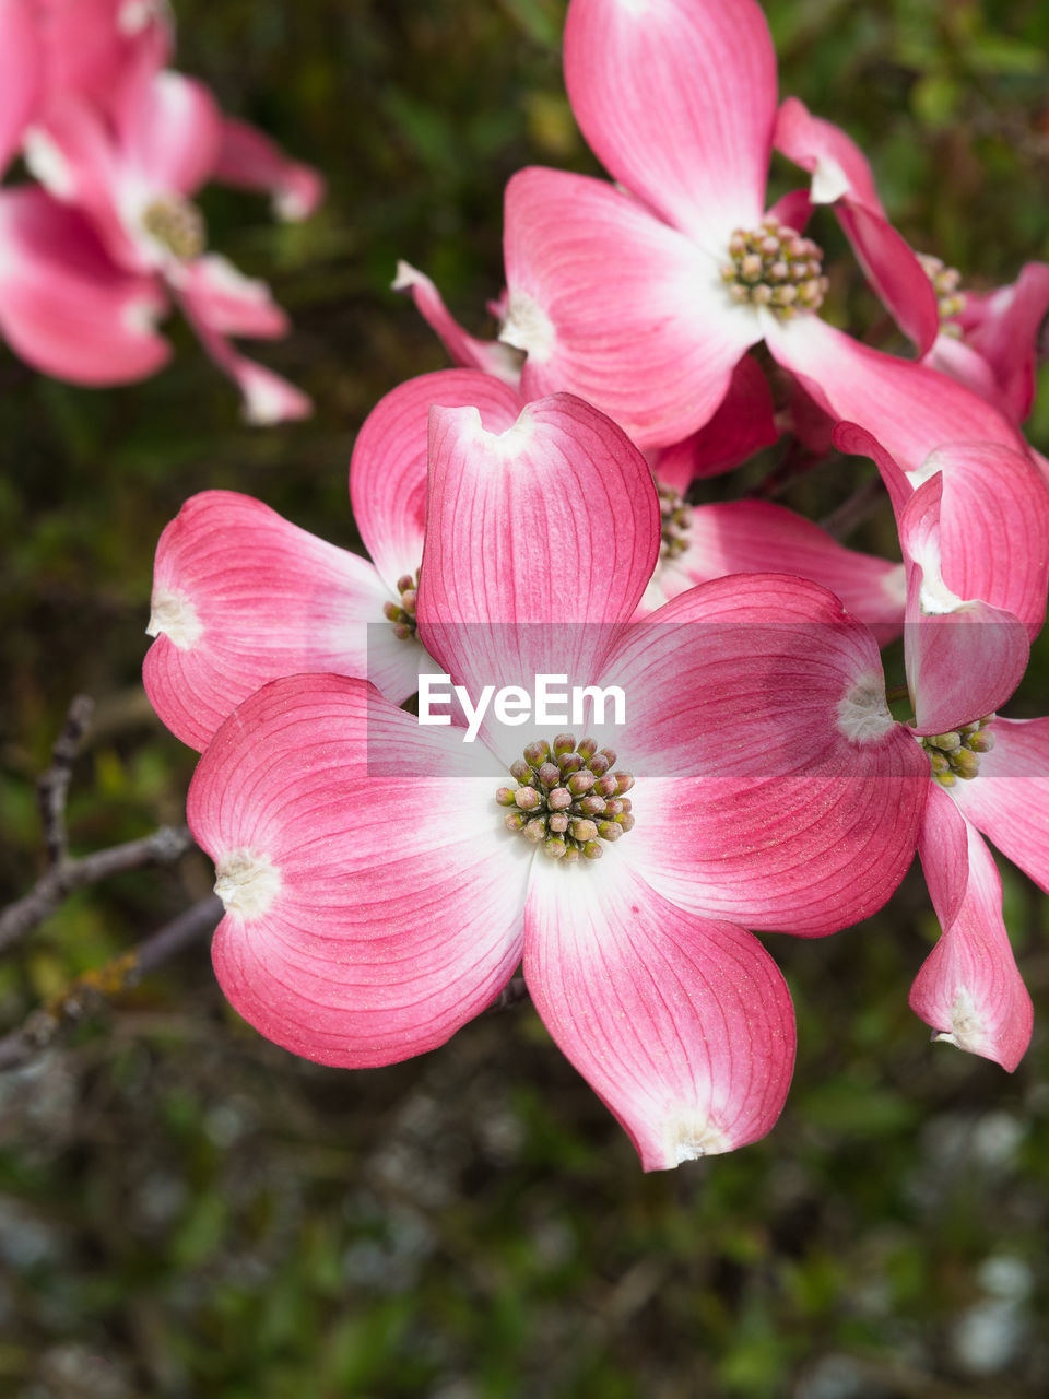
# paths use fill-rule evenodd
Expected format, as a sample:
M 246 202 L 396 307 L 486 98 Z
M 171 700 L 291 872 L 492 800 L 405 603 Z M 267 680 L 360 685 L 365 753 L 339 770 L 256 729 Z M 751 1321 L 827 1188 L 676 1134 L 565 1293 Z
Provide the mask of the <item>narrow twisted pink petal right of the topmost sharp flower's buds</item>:
M 789 97 L 779 109 L 776 150 L 813 173 L 813 203 L 835 206 L 867 280 L 925 354 L 940 329 L 936 292 L 906 241 L 885 218 L 860 148 L 841 127 Z

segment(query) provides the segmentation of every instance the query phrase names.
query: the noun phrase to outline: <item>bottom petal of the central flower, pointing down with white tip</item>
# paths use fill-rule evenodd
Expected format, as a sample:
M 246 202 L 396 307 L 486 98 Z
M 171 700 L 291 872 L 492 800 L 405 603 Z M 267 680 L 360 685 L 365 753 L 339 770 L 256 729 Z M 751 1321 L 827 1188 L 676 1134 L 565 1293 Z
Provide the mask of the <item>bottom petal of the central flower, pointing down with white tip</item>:
M 541 867 L 543 866 L 543 867 Z M 790 992 L 751 933 L 695 918 L 622 860 L 537 860 L 524 979 L 646 1171 L 764 1136 L 794 1065 Z

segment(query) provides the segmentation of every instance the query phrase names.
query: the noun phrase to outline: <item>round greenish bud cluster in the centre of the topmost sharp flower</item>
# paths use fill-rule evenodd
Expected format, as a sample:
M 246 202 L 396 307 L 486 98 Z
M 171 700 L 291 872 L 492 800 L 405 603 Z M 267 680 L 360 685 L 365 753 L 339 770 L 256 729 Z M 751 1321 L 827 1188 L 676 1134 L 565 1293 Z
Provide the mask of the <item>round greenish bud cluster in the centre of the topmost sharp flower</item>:
M 737 228 L 729 239 L 729 256 L 722 281 L 740 305 L 768 306 L 780 320 L 822 305 L 829 285 L 822 276 L 822 249 L 775 214 L 766 214 L 754 231 Z

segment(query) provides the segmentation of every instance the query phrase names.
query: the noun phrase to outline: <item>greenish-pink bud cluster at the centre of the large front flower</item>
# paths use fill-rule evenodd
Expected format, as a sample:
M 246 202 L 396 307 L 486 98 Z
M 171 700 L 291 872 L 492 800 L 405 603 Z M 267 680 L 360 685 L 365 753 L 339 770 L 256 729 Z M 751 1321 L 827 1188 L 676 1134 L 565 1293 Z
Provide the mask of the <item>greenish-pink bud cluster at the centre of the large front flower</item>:
M 495 800 L 513 807 L 506 813 L 508 831 L 515 831 L 554 860 L 597 860 L 601 841 L 618 841 L 634 825 L 629 772 L 614 772 L 613 748 L 600 748 L 593 739 L 575 741 L 559 733 L 554 743 L 537 739 L 523 758 L 511 765 L 516 788 L 499 788 Z

